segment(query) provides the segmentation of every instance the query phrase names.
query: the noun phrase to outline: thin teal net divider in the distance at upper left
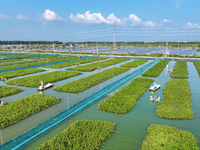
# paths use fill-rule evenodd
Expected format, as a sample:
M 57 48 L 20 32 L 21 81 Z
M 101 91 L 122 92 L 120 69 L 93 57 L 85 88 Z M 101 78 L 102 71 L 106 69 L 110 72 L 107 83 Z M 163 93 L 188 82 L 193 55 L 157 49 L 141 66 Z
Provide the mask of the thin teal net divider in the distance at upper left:
M 47 63 L 47 64 L 41 64 L 41 65 L 35 65 L 35 66 L 29 66 L 29 67 L 13 68 L 13 69 L 8 69 L 8 70 L 2 70 L 2 71 L 0 71 L 0 73 L 9 72 L 9 71 L 15 71 L 15 70 L 28 69 L 28 68 L 37 68 L 37 67 L 43 67 L 43 66 L 48 66 L 48 65 L 55 65 L 55 64 L 61 64 L 61 63 L 66 63 L 66 62 L 71 62 L 71 61 L 91 59 L 91 58 L 96 58 L 96 57 L 97 56 L 93 56 L 93 57 L 89 57 L 89 58 L 81 58 L 81 59 L 72 59 L 72 60 L 66 60 L 66 61 L 54 62 L 54 63 Z

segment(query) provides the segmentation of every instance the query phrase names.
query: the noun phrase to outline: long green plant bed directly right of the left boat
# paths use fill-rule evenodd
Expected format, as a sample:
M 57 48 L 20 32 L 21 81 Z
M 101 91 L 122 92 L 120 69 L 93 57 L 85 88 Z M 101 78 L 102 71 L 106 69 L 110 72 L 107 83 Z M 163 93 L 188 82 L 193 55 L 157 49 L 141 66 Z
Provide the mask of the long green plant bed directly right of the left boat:
M 114 67 L 114 68 L 102 71 L 100 73 L 93 74 L 88 77 L 66 83 L 54 89 L 61 92 L 80 93 L 92 86 L 95 86 L 101 82 L 104 82 L 128 70 L 129 68 Z

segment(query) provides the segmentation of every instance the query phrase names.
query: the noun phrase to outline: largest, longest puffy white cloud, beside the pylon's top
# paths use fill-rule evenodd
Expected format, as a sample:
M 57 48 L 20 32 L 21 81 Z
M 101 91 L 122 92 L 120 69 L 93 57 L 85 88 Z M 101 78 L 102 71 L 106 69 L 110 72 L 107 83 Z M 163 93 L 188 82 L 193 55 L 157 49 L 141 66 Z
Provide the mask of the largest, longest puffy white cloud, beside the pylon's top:
M 104 18 L 101 13 L 90 13 L 90 11 L 86 11 L 85 14 L 71 14 L 69 18 L 76 23 L 89 23 L 89 24 L 121 24 L 121 19 L 118 19 L 113 13 L 110 14 L 107 18 Z

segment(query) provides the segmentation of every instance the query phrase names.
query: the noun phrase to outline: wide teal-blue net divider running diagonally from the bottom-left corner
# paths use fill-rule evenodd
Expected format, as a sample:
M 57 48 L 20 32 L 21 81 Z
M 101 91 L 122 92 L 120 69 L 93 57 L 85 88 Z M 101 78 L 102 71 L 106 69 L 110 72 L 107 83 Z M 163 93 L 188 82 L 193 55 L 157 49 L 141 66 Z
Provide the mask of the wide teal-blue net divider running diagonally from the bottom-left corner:
M 151 67 L 158 61 L 160 61 L 160 59 L 156 59 L 155 61 L 150 62 L 149 64 L 141 67 L 140 69 L 134 71 L 133 73 L 130 73 L 129 75 L 123 77 L 122 79 L 108 85 L 102 90 L 99 90 L 98 92 L 88 96 L 87 98 L 75 103 L 69 108 L 59 112 L 53 117 L 45 120 L 44 122 L 20 134 L 19 136 L 11 139 L 10 141 L 7 141 L 1 144 L 0 149 L 1 150 L 8 150 L 8 149 L 17 150 L 17 149 L 23 149 L 27 147 L 29 144 L 31 144 L 35 140 L 39 139 L 40 137 L 42 137 L 43 135 L 45 135 L 52 129 L 56 128 L 57 126 L 65 122 L 67 119 L 70 119 L 71 117 L 80 113 L 81 111 L 83 111 L 84 109 L 86 109 L 87 107 L 95 103 L 96 101 L 106 96 L 112 90 L 126 83 L 127 81 L 135 77 L 136 75 L 142 73 L 144 70 Z

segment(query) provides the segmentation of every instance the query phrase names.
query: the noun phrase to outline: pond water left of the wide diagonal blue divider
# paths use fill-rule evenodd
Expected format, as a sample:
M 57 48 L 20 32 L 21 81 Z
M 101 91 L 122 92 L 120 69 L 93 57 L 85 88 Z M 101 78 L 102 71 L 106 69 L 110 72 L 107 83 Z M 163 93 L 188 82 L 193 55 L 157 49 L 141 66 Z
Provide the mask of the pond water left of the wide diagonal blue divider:
M 102 71 L 113 68 L 113 67 L 119 67 L 120 65 L 127 63 L 127 62 L 130 62 L 130 61 L 132 61 L 132 60 L 105 67 L 105 68 L 102 69 Z M 152 60 L 149 60 L 145 64 L 148 64 L 150 62 L 152 62 Z M 43 110 L 43 111 L 41 111 L 37 114 L 34 114 L 34 115 L 28 117 L 27 119 L 24 119 L 24 120 L 18 122 L 15 125 L 12 125 L 10 127 L 3 129 L 2 130 L 3 141 L 6 142 L 8 140 L 11 140 L 12 138 L 18 136 L 19 134 L 27 131 L 28 129 L 30 129 L 30 128 L 36 126 L 36 125 L 38 125 L 39 123 L 42 123 L 44 120 L 52 117 L 53 115 L 57 114 L 58 112 L 70 107 L 71 105 L 73 105 L 73 104 L 79 102 L 80 100 L 88 97 L 89 95 L 92 95 L 93 93 L 97 92 L 98 90 L 112 84 L 116 80 L 123 78 L 124 76 L 132 73 L 134 70 L 136 70 L 136 69 L 138 69 L 142 66 L 139 66 L 137 68 L 133 68 L 133 69 L 131 69 L 131 70 L 125 72 L 125 73 L 122 73 L 122 74 L 120 74 L 116 77 L 113 77 L 113 78 L 111 78 L 111 79 L 109 79 L 109 80 L 107 80 L 107 81 L 105 81 L 101 84 L 93 86 L 92 88 L 87 89 L 87 90 L 85 90 L 85 91 L 83 91 L 79 94 L 58 92 L 58 91 L 53 90 L 53 88 L 50 88 L 50 89 L 44 91 L 44 94 L 46 94 L 46 95 L 59 97 L 61 99 L 60 103 L 58 103 L 58 104 L 54 105 L 53 107 L 50 107 L 46 110 Z M 70 66 L 70 67 L 73 67 L 73 66 Z M 47 69 L 47 71 L 45 71 L 45 72 L 42 72 L 42 73 L 40 72 L 40 73 L 36 73 L 36 74 L 43 74 L 43 73 L 54 71 L 54 70 L 65 71 L 66 68 L 70 68 L 70 67 L 64 67 L 64 68 L 61 68 L 61 69 Z M 69 78 L 69 79 L 65 79 L 65 80 L 62 80 L 62 81 L 59 81 L 59 82 L 55 82 L 54 87 L 63 85 L 67 82 L 74 81 L 74 80 L 77 80 L 77 79 L 80 79 L 80 78 L 83 78 L 83 77 L 87 77 L 89 75 L 92 75 L 92 74 L 95 74 L 95 73 L 98 73 L 98 72 L 99 72 L 98 70 L 95 70 L 95 71 L 92 71 L 92 72 L 83 72 L 82 75 L 72 77 L 72 78 Z M 32 75 L 26 75 L 26 76 L 32 76 Z M 16 78 L 22 78 L 22 77 L 16 77 Z M 16 79 L 16 78 L 13 78 L 13 79 Z M 10 85 L 5 84 L 4 82 L 1 82 L 1 85 L 10 86 Z M 20 87 L 20 86 L 18 86 L 18 87 L 23 89 L 24 91 L 21 92 L 21 93 L 18 93 L 16 95 L 7 97 L 8 102 L 13 101 L 13 100 L 17 100 L 17 99 L 20 99 L 20 98 L 23 98 L 23 97 L 26 97 L 26 96 L 29 96 L 29 95 L 32 95 L 32 94 L 41 93 L 41 92 L 37 91 L 37 88 L 27 88 L 27 87 Z

